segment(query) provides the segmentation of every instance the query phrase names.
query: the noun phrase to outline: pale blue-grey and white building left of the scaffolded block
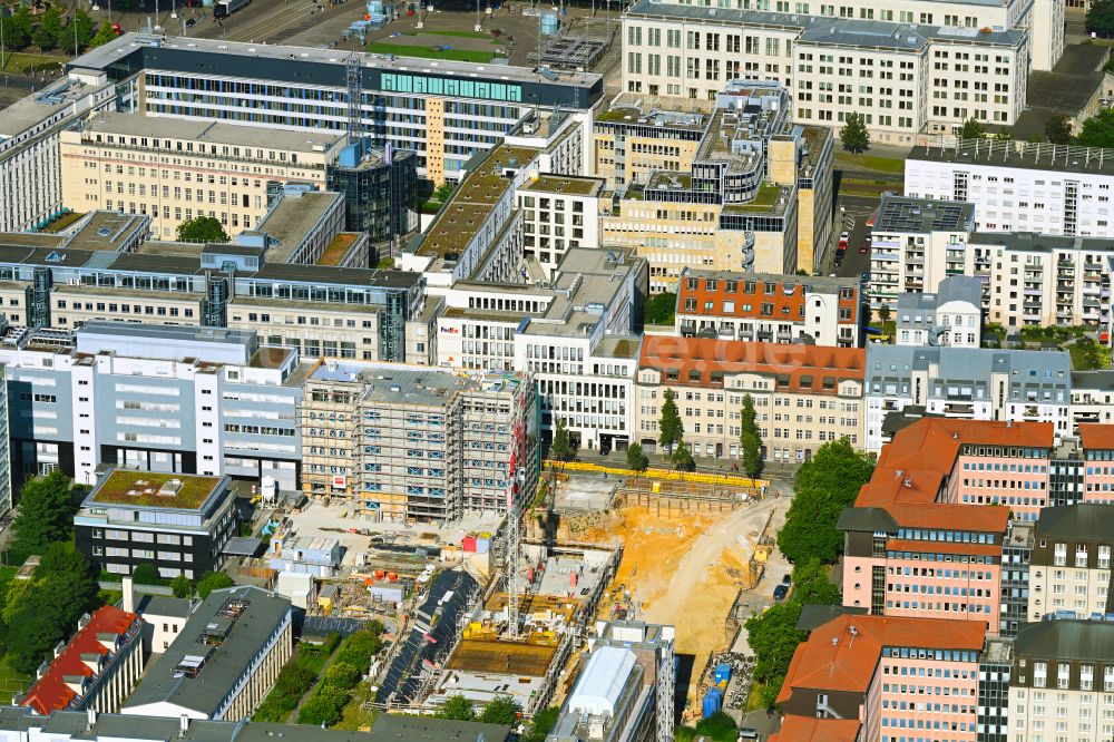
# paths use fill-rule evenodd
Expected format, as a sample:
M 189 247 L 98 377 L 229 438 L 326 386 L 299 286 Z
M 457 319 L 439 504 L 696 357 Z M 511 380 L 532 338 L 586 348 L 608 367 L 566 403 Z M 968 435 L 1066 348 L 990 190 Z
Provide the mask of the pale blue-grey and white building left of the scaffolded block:
M 252 332 L 126 322 L 10 334 L 0 362 L 17 472 L 91 485 L 105 465 L 295 488 L 296 352 Z

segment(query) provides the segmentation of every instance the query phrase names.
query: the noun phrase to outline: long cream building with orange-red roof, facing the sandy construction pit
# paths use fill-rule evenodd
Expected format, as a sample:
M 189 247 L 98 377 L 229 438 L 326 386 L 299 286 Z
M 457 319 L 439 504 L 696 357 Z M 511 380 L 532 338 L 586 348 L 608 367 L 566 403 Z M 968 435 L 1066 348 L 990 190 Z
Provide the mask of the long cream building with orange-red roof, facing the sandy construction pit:
M 764 456 L 808 461 L 827 441 L 862 445 L 866 352 L 711 338 L 646 335 L 638 358 L 637 439 L 657 448 L 672 391 L 693 456 L 741 459 L 743 399 L 758 413 Z

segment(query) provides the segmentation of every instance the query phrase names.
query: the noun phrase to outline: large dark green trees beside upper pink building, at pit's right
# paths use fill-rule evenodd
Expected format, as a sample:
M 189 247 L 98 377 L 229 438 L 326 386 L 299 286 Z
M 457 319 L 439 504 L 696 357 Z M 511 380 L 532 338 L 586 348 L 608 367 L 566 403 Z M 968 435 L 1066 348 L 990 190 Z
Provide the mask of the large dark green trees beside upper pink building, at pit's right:
M 812 558 L 836 562 L 843 550 L 836 521 L 843 508 L 854 504 L 873 470 L 873 461 L 851 448 L 847 438 L 824 443 L 797 471 L 793 504 L 778 534 L 781 553 L 794 564 Z

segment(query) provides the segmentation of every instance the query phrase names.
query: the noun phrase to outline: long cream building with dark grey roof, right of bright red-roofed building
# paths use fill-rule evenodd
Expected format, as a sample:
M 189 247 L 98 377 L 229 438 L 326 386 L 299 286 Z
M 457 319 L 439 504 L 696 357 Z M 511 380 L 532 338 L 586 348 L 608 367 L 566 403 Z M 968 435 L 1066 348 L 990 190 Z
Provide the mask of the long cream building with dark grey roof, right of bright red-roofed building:
M 258 587 L 213 590 L 147 672 L 123 713 L 240 721 L 293 651 L 290 601 Z

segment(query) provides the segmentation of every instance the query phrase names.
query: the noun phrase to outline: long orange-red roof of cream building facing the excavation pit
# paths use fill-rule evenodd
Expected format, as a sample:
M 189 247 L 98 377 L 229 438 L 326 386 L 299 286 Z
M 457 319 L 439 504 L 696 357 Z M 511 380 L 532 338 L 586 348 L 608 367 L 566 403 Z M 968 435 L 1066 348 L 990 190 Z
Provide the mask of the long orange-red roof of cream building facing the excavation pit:
M 670 383 L 694 387 L 722 387 L 722 380 L 712 381 L 712 372 L 765 373 L 782 377 L 778 389 L 794 391 L 824 390 L 824 380 L 838 384 L 844 379 L 862 381 L 867 352 L 861 348 L 832 348 L 828 345 L 798 345 L 788 343 L 755 343 L 745 340 L 715 338 L 678 338 L 675 335 L 646 335 L 642 343 L 639 369 L 676 371 L 676 381 Z M 692 377 L 692 372 L 698 377 Z M 811 379 L 809 379 L 811 377 Z

